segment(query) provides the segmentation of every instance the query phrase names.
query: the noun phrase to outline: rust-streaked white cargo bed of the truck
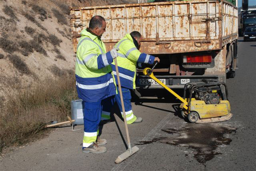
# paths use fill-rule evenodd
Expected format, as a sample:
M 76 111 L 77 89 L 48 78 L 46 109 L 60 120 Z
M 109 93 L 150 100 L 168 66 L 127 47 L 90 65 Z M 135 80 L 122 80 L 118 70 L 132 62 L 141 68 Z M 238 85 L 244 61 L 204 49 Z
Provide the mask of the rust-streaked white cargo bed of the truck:
M 141 51 L 173 54 L 221 49 L 237 36 L 237 9 L 218 0 L 191 0 L 71 8 L 73 47 L 92 16 L 107 23 L 102 40 L 110 50 L 126 33 L 139 31 Z M 223 18 L 222 18 L 223 17 Z

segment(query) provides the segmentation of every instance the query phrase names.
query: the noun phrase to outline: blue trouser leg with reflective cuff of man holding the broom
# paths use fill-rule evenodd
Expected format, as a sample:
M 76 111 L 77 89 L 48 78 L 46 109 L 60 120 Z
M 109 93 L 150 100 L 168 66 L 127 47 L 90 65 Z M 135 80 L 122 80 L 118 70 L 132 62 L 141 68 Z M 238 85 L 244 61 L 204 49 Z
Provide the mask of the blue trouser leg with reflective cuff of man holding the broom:
M 84 114 L 83 147 L 89 147 L 97 139 L 102 105 L 101 101 L 82 102 Z

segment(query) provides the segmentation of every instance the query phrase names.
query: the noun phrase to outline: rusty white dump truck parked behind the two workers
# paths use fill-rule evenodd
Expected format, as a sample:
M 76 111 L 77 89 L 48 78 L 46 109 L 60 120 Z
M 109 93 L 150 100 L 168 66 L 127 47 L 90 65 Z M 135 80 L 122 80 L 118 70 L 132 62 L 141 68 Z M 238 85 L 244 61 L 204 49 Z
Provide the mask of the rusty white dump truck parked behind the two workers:
M 226 0 L 70 7 L 70 11 L 74 52 L 80 32 L 100 15 L 106 20 L 102 41 L 107 51 L 125 34 L 140 32 L 140 51 L 160 58 L 154 75 L 167 87 L 183 89 L 188 82 L 226 82 L 235 76 L 238 8 Z M 136 89 L 162 88 L 142 71 L 137 68 Z

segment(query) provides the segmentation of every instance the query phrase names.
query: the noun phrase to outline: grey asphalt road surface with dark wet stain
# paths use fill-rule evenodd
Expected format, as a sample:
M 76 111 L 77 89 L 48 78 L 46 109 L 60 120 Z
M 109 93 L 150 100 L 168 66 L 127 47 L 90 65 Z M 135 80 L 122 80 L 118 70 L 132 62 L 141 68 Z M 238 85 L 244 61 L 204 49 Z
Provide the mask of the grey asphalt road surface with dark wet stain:
M 256 170 L 256 42 L 240 38 L 238 57 L 236 77 L 227 80 L 233 113 L 229 121 L 191 124 L 176 111 L 175 99 L 141 99 L 132 105 L 143 122 L 128 126 L 132 147 L 140 150 L 122 163 L 114 161 L 126 151 L 126 134 L 114 115 L 116 121 L 102 129 L 106 153 L 82 153 L 83 130 L 59 127 L 0 160 L 0 170 Z

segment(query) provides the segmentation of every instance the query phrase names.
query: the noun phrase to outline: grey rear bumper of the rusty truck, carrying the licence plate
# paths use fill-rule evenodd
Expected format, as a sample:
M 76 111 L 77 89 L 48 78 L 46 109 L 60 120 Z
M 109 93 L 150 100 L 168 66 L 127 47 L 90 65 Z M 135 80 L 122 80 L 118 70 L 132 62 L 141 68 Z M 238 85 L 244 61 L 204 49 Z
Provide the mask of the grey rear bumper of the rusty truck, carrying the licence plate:
M 211 79 L 215 81 L 221 81 L 222 76 L 207 75 L 207 76 L 156 76 L 160 80 L 165 80 L 165 84 L 169 88 L 184 88 L 184 85 L 188 82 L 200 82 L 202 79 Z M 222 79 L 220 79 L 222 78 Z M 138 76 L 136 78 L 136 89 L 160 89 L 163 88 L 159 84 L 143 84 L 142 79 L 150 79 L 148 76 Z M 142 83 L 142 84 L 141 84 Z

